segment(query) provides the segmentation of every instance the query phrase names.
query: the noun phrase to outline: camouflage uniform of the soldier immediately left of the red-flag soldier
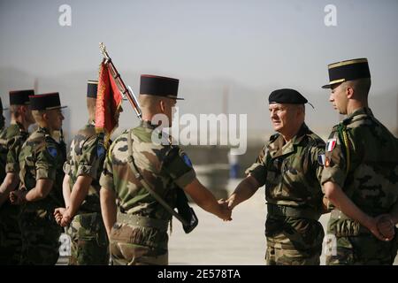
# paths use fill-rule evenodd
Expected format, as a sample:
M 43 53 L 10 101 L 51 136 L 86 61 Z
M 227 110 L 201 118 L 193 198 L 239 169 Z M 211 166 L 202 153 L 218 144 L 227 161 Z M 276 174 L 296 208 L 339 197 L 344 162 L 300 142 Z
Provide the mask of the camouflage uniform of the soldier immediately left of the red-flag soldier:
M 19 226 L 22 233 L 21 264 L 56 264 L 59 256 L 58 238 L 62 232 L 53 212 L 65 206 L 62 196 L 65 159 L 59 144 L 46 128 L 39 127 L 29 136 L 19 154 L 19 179 L 27 191 L 36 180 L 54 181 L 46 198 L 21 206 Z

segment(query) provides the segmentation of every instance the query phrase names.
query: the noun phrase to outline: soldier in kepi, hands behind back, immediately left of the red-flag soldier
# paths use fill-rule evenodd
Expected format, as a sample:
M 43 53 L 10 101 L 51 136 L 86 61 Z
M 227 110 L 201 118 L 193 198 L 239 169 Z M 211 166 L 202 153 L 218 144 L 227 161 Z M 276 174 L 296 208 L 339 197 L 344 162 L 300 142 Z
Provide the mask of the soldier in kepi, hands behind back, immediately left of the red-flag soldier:
M 63 207 L 62 170 L 65 158 L 61 146 L 51 137 L 61 130 L 62 115 L 58 93 L 29 96 L 39 128 L 22 146 L 19 154 L 18 191 L 10 193 L 11 203 L 21 205 L 21 264 L 56 264 L 61 228 L 53 217 Z

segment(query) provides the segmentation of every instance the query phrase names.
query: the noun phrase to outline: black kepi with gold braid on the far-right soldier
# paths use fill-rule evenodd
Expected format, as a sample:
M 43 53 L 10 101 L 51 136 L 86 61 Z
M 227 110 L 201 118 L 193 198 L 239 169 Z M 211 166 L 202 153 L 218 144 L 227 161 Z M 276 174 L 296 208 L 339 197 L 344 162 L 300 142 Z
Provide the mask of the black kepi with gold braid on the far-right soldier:
M 359 58 L 328 65 L 329 83 L 322 88 L 332 88 L 333 84 L 347 80 L 371 78 L 368 59 Z

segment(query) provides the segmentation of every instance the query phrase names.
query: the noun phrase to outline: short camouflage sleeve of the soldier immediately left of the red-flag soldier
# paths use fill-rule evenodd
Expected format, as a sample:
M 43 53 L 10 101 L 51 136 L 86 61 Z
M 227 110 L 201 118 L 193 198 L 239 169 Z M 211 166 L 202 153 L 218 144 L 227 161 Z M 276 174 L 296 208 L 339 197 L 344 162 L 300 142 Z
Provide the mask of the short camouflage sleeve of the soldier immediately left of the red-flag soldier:
M 37 151 L 36 162 L 34 163 L 36 180 L 56 180 L 57 156 L 60 154 L 61 152 L 57 149 L 57 145 L 49 142 Z

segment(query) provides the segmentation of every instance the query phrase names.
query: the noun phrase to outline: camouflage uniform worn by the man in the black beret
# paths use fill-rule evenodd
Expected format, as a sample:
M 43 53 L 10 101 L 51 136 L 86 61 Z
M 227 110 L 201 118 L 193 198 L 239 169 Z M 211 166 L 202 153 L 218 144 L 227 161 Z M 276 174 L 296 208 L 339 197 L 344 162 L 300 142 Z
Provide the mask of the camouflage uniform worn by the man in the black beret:
M 324 231 L 320 178 L 325 142 L 303 124 L 284 145 L 283 136 L 271 136 L 256 163 L 246 171 L 265 185 L 267 264 L 319 264 Z

